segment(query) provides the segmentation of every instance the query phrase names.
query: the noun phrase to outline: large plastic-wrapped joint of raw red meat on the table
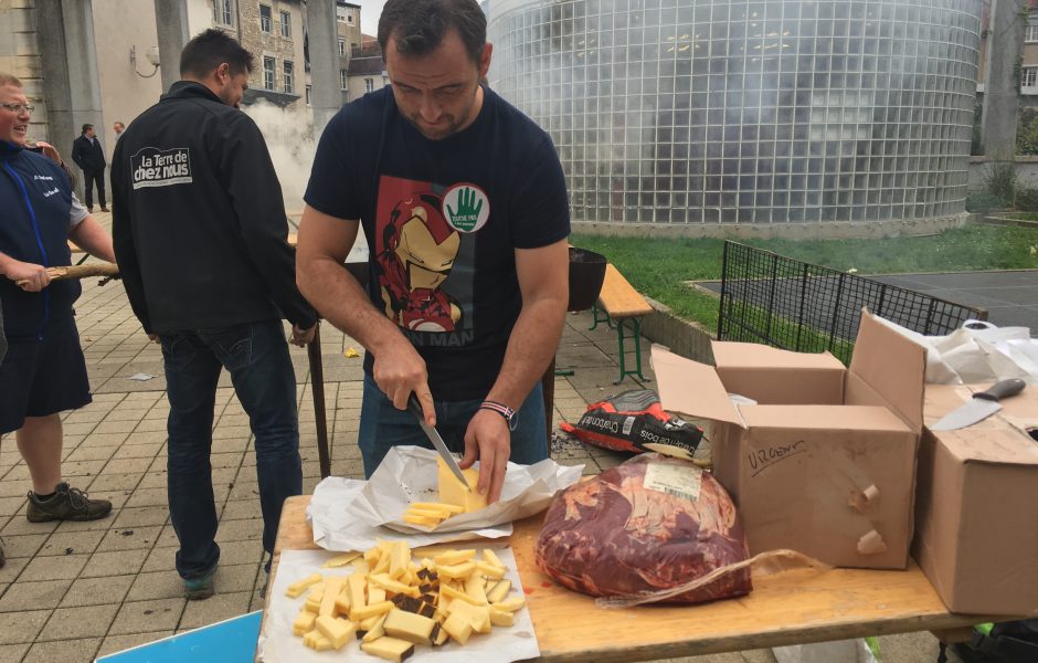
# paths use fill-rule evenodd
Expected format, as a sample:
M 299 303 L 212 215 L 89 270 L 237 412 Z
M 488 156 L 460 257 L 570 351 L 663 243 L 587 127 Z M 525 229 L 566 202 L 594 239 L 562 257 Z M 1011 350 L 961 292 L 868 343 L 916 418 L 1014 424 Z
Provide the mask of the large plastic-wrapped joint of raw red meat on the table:
M 564 587 L 596 597 L 670 589 L 749 557 L 721 484 L 692 463 L 655 453 L 557 495 L 534 554 Z M 744 568 L 663 602 L 699 603 L 751 589 Z

